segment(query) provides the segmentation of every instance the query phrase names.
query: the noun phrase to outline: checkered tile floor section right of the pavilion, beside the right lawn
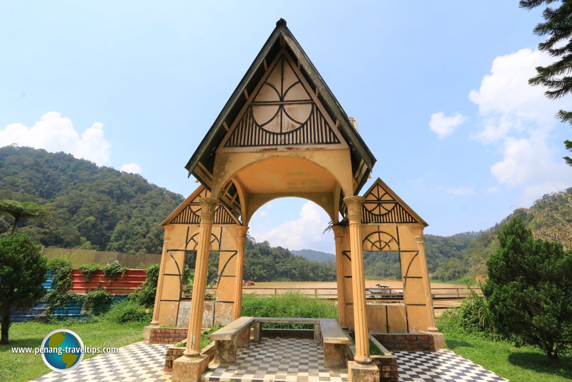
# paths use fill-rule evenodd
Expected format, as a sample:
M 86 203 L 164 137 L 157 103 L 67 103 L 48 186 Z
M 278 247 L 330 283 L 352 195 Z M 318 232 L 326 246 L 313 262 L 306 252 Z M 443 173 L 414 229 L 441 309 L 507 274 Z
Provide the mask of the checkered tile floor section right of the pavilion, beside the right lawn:
M 450 350 L 393 353 L 399 382 L 509 382 Z

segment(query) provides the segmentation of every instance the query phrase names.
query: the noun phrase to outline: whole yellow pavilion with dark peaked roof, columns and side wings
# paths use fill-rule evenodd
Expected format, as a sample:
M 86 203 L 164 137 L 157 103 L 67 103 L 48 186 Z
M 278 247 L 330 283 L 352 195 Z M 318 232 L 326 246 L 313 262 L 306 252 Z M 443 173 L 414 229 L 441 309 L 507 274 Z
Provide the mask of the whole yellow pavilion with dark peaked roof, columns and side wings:
M 427 226 L 381 179 L 360 196 L 376 159 L 286 22 L 276 28 L 190 157 L 200 186 L 162 223 L 165 242 L 152 328 L 188 327 L 173 380 L 204 371 L 201 328 L 241 317 L 249 220 L 276 198 L 315 202 L 332 221 L 339 325 L 355 333 L 349 375 L 371 368 L 368 333 L 431 333 L 435 328 L 423 229 Z M 386 164 L 389 166 L 389 164 Z M 399 253 L 402 304 L 366 304 L 363 251 Z M 219 255 L 216 301 L 205 302 L 209 254 Z M 185 261 L 196 256 L 192 299 Z M 202 371 L 201 371 L 202 370 Z M 379 376 L 378 376 L 379 378 Z

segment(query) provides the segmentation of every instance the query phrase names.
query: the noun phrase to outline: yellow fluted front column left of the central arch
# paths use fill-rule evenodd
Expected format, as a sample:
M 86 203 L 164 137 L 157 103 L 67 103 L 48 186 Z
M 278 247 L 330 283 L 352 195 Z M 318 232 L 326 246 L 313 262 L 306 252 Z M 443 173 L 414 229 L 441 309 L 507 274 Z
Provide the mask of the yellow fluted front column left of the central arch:
M 186 338 L 186 357 L 196 357 L 201 351 L 201 325 L 204 312 L 206 276 L 209 265 L 210 233 L 215 217 L 215 198 L 201 198 L 201 226 L 198 234 L 197 263 L 194 269 L 193 296 L 190 305 L 189 333 Z

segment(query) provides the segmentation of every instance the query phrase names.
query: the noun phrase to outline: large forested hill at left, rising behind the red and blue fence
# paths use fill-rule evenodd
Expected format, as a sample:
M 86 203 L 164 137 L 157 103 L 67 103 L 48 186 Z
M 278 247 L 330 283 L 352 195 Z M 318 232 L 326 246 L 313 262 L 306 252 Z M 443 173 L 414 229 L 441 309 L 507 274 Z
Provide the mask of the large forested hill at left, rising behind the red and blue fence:
M 42 245 L 123 253 L 161 253 L 159 224 L 184 200 L 141 175 L 14 146 L 0 148 L 0 199 L 53 203 L 49 222 L 19 223 Z M 0 234 L 13 221 L 0 215 Z

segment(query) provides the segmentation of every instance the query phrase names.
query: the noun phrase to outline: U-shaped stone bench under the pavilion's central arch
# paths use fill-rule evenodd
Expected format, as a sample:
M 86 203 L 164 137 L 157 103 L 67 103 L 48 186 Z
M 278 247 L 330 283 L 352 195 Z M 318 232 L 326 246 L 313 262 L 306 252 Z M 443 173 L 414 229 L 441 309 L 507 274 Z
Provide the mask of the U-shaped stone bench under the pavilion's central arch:
M 347 367 L 349 339 L 337 321 L 331 318 L 241 317 L 209 334 L 209 339 L 215 341 L 213 361 L 223 365 L 235 364 L 237 348 L 249 346 L 250 326 L 254 324 L 253 341 L 259 342 L 264 323 L 314 325 L 314 341 L 321 343 L 324 349 L 324 366 L 331 369 Z

